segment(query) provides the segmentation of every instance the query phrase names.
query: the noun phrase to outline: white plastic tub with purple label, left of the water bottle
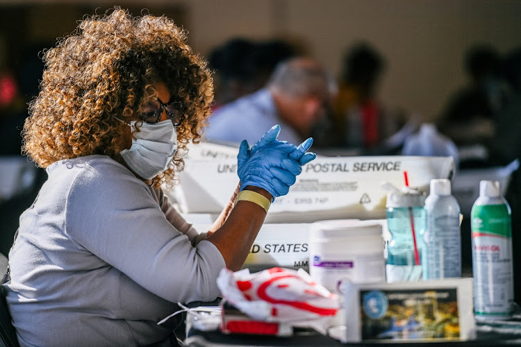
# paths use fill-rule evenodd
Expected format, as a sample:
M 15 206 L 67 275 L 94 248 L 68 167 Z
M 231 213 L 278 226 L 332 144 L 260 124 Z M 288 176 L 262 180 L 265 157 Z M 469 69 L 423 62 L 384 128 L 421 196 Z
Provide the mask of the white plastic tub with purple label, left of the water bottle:
M 338 219 L 311 224 L 309 273 L 333 293 L 344 280 L 386 282 L 381 224 Z

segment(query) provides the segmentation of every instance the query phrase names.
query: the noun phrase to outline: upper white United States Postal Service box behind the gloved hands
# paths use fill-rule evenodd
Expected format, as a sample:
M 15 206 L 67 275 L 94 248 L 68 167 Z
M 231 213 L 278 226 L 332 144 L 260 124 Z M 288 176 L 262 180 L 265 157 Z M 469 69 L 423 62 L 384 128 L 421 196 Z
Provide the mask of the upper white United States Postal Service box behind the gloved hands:
M 197 148 L 197 146 L 196 146 Z M 232 156 L 233 153 L 233 156 Z M 185 213 L 219 214 L 238 185 L 237 149 L 201 144 L 190 149 L 176 187 Z M 433 178 L 452 178 L 452 157 L 317 157 L 304 165 L 286 196 L 276 198 L 266 223 L 311 223 L 324 219 L 384 219 L 387 181 L 429 192 Z M 167 193 L 169 194 L 169 193 Z M 170 192 L 172 194 L 172 192 Z

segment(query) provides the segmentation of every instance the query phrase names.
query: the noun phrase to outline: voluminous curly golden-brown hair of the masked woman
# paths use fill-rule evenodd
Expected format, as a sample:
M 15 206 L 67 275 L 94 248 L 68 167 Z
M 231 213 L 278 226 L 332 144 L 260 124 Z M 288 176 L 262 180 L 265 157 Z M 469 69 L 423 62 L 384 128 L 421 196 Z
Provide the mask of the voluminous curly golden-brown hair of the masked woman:
M 178 146 L 199 142 L 213 101 L 206 61 L 186 44 L 185 31 L 167 17 L 132 17 L 115 7 L 83 19 L 74 33 L 44 52 L 40 94 L 29 104 L 23 151 L 48 167 L 83 155 L 104 154 L 122 162 L 117 141 L 125 124 L 136 119 L 144 102 L 157 96 L 150 88 L 167 85 L 183 105 Z M 139 122 L 138 122 L 139 124 Z M 155 184 L 171 182 L 184 167 L 178 151 Z

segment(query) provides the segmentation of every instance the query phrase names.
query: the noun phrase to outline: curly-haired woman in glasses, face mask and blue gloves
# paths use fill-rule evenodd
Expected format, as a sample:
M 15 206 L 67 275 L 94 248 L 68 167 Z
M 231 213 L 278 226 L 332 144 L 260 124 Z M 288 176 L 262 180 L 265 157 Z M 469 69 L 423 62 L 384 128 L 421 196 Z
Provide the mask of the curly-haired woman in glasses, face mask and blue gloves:
M 175 303 L 211 301 L 240 269 L 270 201 L 286 194 L 311 139 L 274 127 L 238 154 L 240 192 L 199 234 L 160 186 L 183 168 L 213 89 L 206 62 L 165 17 L 120 8 L 83 20 L 44 55 L 24 151 L 49 178 L 20 217 L 3 285 L 22 346 L 167 344 Z M 235 196 L 238 195 L 238 196 Z M 175 340 L 173 340 L 175 341 Z

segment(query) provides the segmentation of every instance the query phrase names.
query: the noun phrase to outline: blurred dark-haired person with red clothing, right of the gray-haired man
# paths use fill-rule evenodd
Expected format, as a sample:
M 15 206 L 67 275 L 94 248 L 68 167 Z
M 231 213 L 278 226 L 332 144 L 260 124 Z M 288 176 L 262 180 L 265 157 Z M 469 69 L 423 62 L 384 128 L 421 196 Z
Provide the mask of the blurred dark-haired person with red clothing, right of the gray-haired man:
M 347 50 L 333 106 L 334 146 L 378 151 L 404 126 L 403 113 L 378 100 L 384 69 L 383 56 L 367 42 Z

